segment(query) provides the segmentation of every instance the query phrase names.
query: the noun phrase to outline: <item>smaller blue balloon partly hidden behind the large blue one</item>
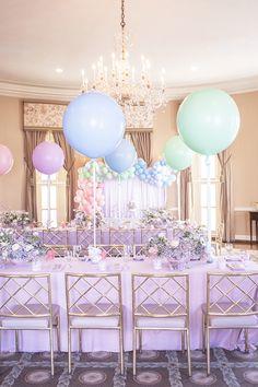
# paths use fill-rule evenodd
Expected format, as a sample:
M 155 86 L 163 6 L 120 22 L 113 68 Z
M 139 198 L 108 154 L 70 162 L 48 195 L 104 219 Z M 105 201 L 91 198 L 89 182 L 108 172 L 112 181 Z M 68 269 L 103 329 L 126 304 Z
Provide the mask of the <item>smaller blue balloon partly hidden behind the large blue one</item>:
M 105 162 L 110 169 L 121 174 L 133 165 L 136 156 L 137 152 L 132 143 L 122 139 L 115 151 L 105 157 Z

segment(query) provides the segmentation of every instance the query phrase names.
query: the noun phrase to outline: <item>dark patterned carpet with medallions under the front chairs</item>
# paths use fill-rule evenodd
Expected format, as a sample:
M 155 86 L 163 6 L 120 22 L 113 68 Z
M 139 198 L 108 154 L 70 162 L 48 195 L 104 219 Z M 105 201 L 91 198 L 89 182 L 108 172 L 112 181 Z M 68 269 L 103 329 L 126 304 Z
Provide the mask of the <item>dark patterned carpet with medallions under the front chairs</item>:
M 138 354 L 137 376 L 132 376 L 131 353 L 126 353 L 126 374 L 119 375 L 117 354 L 74 353 L 72 374 L 67 371 L 67 354 L 55 355 L 55 376 L 49 371 L 48 353 L 2 353 L 0 386 L 98 386 L 98 387 L 254 387 L 258 386 L 258 351 L 245 354 L 220 348 L 212 351 L 212 372 L 206 374 L 206 357 L 192 351 L 192 376 L 187 375 L 186 355 L 176 351 L 143 351 Z

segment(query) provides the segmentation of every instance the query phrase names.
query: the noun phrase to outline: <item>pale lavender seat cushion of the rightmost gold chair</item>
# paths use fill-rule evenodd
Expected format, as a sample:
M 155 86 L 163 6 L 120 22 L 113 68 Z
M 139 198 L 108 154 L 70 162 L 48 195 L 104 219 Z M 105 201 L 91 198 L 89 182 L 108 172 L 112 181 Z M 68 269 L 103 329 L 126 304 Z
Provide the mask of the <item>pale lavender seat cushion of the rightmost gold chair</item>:
M 214 307 L 210 308 L 211 313 L 218 313 L 218 314 L 223 314 L 221 316 L 211 316 L 209 318 L 210 326 L 211 327 L 218 327 L 218 328 L 234 328 L 234 327 L 254 327 L 258 326 L 258 318 L 257 315 L 237 315 L 243 313 L 244 310 L 248 309 L 248 305 L 246 303 L 239 303 L 238 305 L 233 305 L 231 307 L 231 303 L 220 303 Z M 207 304 L 202 304 L 202 312 L 207 314 Z M 235 316 L 231 316 L 232 314 L 236 314 Z

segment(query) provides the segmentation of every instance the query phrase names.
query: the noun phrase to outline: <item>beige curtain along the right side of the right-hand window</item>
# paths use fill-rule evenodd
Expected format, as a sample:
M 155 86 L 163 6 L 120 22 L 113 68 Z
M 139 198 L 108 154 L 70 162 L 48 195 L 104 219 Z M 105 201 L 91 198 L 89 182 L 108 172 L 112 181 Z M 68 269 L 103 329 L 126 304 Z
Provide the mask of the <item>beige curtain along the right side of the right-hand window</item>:
M 234 239 L 231 154 L 225 150 L 218 154 L 218 159 L 221 166 L 220 216 L 224 224 L 223 241 L 230 242 Z

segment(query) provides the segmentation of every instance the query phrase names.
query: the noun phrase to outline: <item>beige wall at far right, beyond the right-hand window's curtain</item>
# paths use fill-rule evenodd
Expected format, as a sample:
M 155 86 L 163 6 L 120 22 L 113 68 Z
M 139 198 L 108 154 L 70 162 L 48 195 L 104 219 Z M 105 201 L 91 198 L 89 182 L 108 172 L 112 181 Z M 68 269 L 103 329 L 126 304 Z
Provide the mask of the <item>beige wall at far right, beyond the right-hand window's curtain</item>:
M 233 97 L 241 113 L 241 130 L 231 146 L 235 234 L 237 239 L 246 239 L 248 211 L 258 201 L 258 92 Z

